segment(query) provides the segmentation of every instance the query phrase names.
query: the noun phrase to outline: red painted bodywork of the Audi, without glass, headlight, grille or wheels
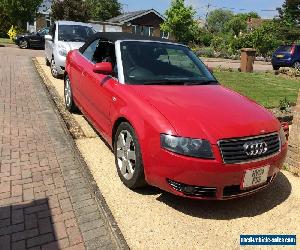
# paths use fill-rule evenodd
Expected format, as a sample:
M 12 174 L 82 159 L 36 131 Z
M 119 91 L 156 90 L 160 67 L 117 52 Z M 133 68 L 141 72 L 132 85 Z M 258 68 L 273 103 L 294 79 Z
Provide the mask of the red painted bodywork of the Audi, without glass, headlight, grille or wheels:
M 287 144 L 268 159 L 243 164 L 223 163 L 218 141 L 279 132 L 279 121 L 260 105 L 221 85 L 148 86 L 120 84 L 93 72 L 94 65 L 77 50 L 68 54 L 73 98 L 112 146 L 114 125 L 126 119 L 134 128 L 141 147 L 146 181 L 153 186 L 185 196 L 174 190 L 167 179 L 191 186 L 216 187 L 216 197 L 230 199 L 265 186 L 224 197 L 225 186 L 242 185 L 245 171 L 270 166 L 271 181 L 280 171 Z M 188 108 L 187 108 L 188 107 Z M 160 134 L 202 138 L 212 145 L 215 159 L 199 159 L 162 149 Z

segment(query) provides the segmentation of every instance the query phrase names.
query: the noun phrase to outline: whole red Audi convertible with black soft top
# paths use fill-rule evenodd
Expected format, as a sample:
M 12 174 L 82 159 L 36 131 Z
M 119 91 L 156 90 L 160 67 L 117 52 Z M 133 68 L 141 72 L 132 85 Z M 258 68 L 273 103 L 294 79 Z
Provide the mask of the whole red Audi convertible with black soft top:
M 284 163 L 279 121 L 223 87 L 185 45 L 97 33 L 68 54 L 64 83 L 66 108 L 113 148 L 130 189 L 230 199 L 267 187 Z

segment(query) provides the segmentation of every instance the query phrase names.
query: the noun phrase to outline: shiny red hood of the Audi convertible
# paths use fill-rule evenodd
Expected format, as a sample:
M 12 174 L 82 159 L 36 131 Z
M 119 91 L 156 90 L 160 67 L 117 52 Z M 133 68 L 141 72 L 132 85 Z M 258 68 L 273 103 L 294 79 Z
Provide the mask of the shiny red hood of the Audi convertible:
M 179 136 L 220 139 L 279 130 L 278 120 L 254 101 L 220 85 L 131 85 L 170 122 Z

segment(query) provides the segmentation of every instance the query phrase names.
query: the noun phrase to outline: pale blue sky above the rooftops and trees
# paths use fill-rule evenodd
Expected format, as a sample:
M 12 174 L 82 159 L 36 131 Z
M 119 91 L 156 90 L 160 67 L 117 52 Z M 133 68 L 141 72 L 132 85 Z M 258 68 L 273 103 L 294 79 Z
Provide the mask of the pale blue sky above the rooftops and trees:
M 277 15 L 276 8 L 281 7 L 284 0 L 186 0 L 197 10 L 197 15 L 204 18 L 207 5 L 210 9 L 225 8 L 234 13 L 255 11 L 263 18 L 272 18 Z M 155 9 L 164 14 L 169 8 L 171 0 L 120 0 L 125 12 L 134 10 Z

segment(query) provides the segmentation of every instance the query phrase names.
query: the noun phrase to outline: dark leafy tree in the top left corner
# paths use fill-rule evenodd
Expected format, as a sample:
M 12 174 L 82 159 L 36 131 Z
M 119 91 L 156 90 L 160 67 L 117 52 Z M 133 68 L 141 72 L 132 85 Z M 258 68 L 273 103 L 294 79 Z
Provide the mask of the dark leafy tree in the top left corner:
M 0 8 L 10 19 L 12 25 L 25 28 L 28 21 L 33 21 L 42 0 L 0 0 Z

